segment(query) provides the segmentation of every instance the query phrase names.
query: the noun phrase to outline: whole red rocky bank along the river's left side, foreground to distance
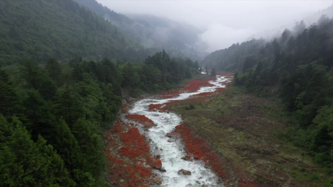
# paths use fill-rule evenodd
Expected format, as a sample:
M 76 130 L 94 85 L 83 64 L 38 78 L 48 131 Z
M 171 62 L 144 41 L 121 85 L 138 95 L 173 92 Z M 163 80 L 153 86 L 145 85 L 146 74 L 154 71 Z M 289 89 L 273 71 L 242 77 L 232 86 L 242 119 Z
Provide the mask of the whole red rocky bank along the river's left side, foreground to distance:
M 208 75 L 200 75 L 196 79 L 182 84 L 180 86 L 183 88 L 181 92 L 196 91 L 199 87 L 207 85 L 209 80 L 216 80 L 216 78 Z M 172 92 L 175 91 L 170 91 L 169 93 Z M 149 98 L 164 98 L 169 93 L 161 93 Z M 109 161 L 106 184 L 109 186 L 146 187 L 154 183 L 161 183 L 160 178 L 155 176 L 156 173 L 154 171 L 156 170 L 151 167 L 155 158 L 151 155 L 154 151 L 149 150 L 149 144 L 154 144 L 154 142 L 142 135 L 146 134 L 144 132 L 149 131 L 148 129 L 156 126 L 156 124 L 145 115 L 127 114 L 128 110 L 132 107 L 130 103 L 144 98 L 131 99 L 130 102 L 124 102 L 120 120 L 115 122 L 113 128 L 105 134 L 106 154 Z M 154 108 L 154 110 L 156 109 Z M 161 110 L 160 112 L 164 111 L 168 113 L 162 108 Z M 167 130 L 167 132 L 170 131 L 172 131 L 172 127 L 170 130 Z M 178 151 L 178 148 L 176 150 Z

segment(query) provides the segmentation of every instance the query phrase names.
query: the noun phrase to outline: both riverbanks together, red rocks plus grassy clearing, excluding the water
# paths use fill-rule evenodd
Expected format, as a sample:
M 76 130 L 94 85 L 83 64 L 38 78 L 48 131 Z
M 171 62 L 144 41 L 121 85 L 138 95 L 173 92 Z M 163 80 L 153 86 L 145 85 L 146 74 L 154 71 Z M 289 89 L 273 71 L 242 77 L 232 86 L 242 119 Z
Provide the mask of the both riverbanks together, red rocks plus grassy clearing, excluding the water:
M 171 110 L 182 116 L 183 122 L 166 136 L 185 145 L 188 154 L 185 158 L 203 160 L 205 167 L 210 167 L 225 186 L 323 186 L 325 176 L 311 157 L 279 140 L 278 131 L 286 130 L 287 126 L 286 118 L 280 115 L 278 100 L 245 94 L 229 85 L 229 81 L 224 82 L 229 85 L 226 89 L 172 100 L 183 92 L 212 86 L 208 81 L 213 79 L 216 78 L 203 75 L 185 82 L 179 90 L 150 97 L 170 100 L 165 104 L 150 104 L 149 111 Z M 123 117 L 143 125 L 120 120 L 106 135 L 109 182 L 115 186 L 158 184 L 160 178 L 155 177 L 156 170 L 151 167 L 155 159 L 149 149 L 152 140 L 137 128 L 148 130 L 156 124 L 144 115 L 125 116 L 129 106 L 124 104 Z

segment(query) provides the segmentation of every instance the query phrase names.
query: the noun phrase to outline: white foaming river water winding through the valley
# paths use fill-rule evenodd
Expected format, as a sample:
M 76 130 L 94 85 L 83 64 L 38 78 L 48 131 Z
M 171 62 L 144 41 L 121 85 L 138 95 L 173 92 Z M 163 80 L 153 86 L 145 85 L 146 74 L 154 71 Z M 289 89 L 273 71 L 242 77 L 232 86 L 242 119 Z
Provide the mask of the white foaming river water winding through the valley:
M 205 168 L 202 160 L 186 161 L 181 157 L 187 155 L 183 149 L 183 145 L 180 140 L 175 142 L 167 142 L 169 139 L 166 137 L 166 133 L 172 132 L 175 126 L 179 125 L 182 120 L 181 117 L 172 112 L 154 112 L 148 111 L 150 104 L 163 104 L 170 100 L 183 100 L 191 97 L 194 94 L 203 92 L 214 92 L 216 88 L 224 88 L 223 83 L 228 83 L 231 80 L 222 76 L 216 76 L 216 81 L 209 81 L 213 84 L 212 87 L 201 87 L 198 91 L 192 93 L 183 93 L 179 96 L 167 99 L 142 99 L 134 103 L 134 106 L 129 113 L 145 115 L 157 125 L 152 127 L 145 133 L 145 135 L 152 139 L 151 147 L 153 154 L 160 154 L 162 161 L 162 168 L 166 169 L 166 172 L 158 172 L 158 176 L 163 179 L 163 183 L 160 186 L 163 187 L 201 187 L 202 184 L 207 186 L 222 186 L 218 184 L 218 178 L 210 168 Z M 158 147 L 158 149 L 156 149 Z M 191 175 L 178 175 L 179 169 L 185 169 L 191 172 Z

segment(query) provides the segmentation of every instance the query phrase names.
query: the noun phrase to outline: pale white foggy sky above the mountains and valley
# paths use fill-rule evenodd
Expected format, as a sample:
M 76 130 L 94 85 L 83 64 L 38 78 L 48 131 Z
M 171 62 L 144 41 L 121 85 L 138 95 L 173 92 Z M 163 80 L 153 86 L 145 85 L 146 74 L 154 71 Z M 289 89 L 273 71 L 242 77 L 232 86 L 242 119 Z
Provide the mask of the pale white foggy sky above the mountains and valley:
M 276 28 L 283 31 L 284 27 L 292 27 L 295 21 L 300 21 L 333 4 L 332 0 L 97 1 L 125 15 L 151 14 L 194 25 L 202 30 L 198 36 L 201 40 L 198 44 L 206 44 L 207 52 L 226 48 L 251 37 L 268 37 L 267 31 L 274 28 L 274 32 L 279 30 Z M 308 25 L 307 22 L 305 23 Z

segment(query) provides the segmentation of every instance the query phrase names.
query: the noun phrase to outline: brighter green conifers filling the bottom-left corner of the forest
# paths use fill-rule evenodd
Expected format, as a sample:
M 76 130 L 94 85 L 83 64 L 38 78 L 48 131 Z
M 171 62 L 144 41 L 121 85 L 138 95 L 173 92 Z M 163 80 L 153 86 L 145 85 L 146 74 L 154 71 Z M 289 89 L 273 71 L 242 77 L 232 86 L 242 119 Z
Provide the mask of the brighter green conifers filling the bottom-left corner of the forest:
M 24 125 L 0 115 L 0 178 L 5 186 L 75 186 L 61 157 L 41 136 L 33 142 Z

